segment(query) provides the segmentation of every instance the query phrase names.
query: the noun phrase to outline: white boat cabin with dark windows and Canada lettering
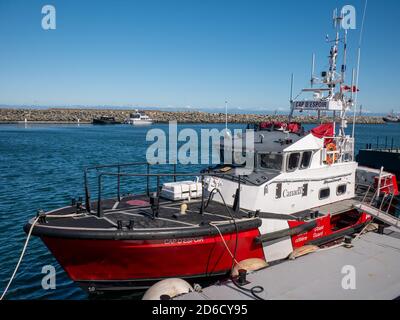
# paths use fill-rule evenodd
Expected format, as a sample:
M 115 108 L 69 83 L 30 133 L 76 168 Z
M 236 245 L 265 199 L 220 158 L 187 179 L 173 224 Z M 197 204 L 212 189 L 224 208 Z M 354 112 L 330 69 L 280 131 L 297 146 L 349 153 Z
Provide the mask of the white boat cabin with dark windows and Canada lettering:
M 223 172 L 224 176 L 208 178 L 208 191 L 219 188 L 213 199 L 233 205 L 240 184 L 241 208 L 289 215 L 353 198 L 357 168 L 353 140 L 321 135 L 329 128 L 323 125 L 310 133 L 259 130 L 254 132 L 254 146 L 245 146 L 245 136 L 239 142 L 233 139 L 232 149 L 223 144 L 221 155 L 232 150 L 233 163 L 222 158 L 210 169 L 211 175 Z M 235 144 L 245 147 L 240 151 Z M 251 155 L 246 158 L 252 159 L 250 165 L 234 162 L 235 153 L 244 152 Z

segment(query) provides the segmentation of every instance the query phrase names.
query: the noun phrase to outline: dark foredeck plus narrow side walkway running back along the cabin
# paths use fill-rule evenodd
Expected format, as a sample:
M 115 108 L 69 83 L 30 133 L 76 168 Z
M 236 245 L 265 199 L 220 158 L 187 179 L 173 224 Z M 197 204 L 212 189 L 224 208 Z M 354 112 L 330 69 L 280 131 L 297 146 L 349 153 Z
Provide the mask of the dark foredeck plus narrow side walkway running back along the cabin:
M 206 203 L 205 201 L 204 203 Z M 180 206 L 186 203 L 186 214 L 180 214 Z M 320 207 L 298 212 L 293 215 L 276 215 L 260 213 L 260 217 L 298 219 L 303 220 L 310 215 L 310 212 L 318 211 L 320 215 L 335 215 L 354 209 L 358 203 L 355 199 L 344 200 Z M 150 205 L 149 197 L 146 195 L 127 196 L 117 201 L 107 199 L 102 201 L 102 213 L 98 216 L 97 203 L 92 202 L 91 214 L 84 208 L 80 211 L 75 206 L 68 206 L 54 211 L 47 212 L 50 216 L 46 218 L 46 226 L 69 229 L 91 229 L 91 230 L 116 230 L 128 228 L 129 230 L 156 230 L 156 229 L 182 229 L 208 225 L 211 222 L 223 223 L 232 222 L 232 216 L 238 221 L 251 219 L 252 212 L 241 209 L 235 213 L 232 208 L 228 209 L 220 203 L 210 201 L 208 206 L 200 214 L 201 200 L 172 201 L 160 198 L 158 215 L 154 216 Z M 77 214 L 78 213 L 78 214 Z M 71 214 L 76 214 L 70 216 Z M 53 218 L 57 215 L 65 219 Z M 232 216 L 231 216 L 232 215 Z M 252 218 L 255 220 L 254 218 Z

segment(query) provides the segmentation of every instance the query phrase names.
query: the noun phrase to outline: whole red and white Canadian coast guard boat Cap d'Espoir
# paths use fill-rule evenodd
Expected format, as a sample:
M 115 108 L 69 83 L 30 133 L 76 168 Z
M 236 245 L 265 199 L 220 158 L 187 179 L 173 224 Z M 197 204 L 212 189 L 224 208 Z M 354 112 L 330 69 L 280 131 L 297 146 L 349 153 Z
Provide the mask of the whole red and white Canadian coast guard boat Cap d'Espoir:
M 238 262 L 277 262 L 304 245 L 360 232 L 371 217 L 357 207 L 359 186 L 375 182 L 377 196 L 398 194 L 398 187 L 394 175 L 359 168 L 355 161 L 354 138 L 345 134 L 353 99 L 336 89 L 344 83 L 344 71 L 336 72 L 338 48 L 339 32 L 330 68 L 319 79 L 326 88 L 305 89 L 313 98 L 292 101 L 292 111 L 332 112 L 340 115 L 340 123 L 310 132 L 293 122 L 261 124 L 253 133 L 254 146 L 246 146 L 253 155 L 251 169 L 249 163 L 221 161 L 191 174 L 199 177 L 195 181 L 161 184 L 189 174 L 152 174 L 147 164 L 117 165 L 117 173 L 109 172 L 111 166 L 97 167 L 97 201 L 91 201 L 85 179 L 84 203 L 40 213 L 25 231 L 40 237 L 69 277 L 89 291 L 145 289 L 170 277 L 227 277 Z M 129 174 L 123 170 L 128 166 L 148 170 Z M 122 176 L 147 179 L 146 191 L 103 199 L 105 176 L 116 178 L 118 190 Z M 149 181 L 155 179 L 152 193 Z M 368 190 L 362 196 L 368 198 Z

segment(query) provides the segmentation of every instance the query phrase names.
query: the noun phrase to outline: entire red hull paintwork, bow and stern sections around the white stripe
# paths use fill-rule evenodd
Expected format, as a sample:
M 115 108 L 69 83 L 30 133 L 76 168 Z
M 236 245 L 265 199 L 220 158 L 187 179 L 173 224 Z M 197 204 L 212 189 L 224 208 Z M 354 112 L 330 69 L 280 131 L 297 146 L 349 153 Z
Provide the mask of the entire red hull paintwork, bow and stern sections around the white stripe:
M 351 228 L 361 228 L 370 217 L 347 212 L 348 225 L 343 227 L 340 215 L 317 219 L 312 230 L 292 236 L 293 249 L 315 240 L 325 242 L 340 238 Z M 304 222 L 289 221 L 290 228 Z M 341 226 L 341 227 L 340 227 Z M 258 229 L 238 234 L 236 260 L 264 257 L 264 249 L 255 238 Z M 69 277 L 86 287 L 97 289 L 129 287 L 144 289 L 152 283 L 170 277 L 193 279 L 227 275 L 232 257 L 220 235 L 164 240 L 88 240 L 42 237 Z M 224 235 L 231 252 L 236 234 Z

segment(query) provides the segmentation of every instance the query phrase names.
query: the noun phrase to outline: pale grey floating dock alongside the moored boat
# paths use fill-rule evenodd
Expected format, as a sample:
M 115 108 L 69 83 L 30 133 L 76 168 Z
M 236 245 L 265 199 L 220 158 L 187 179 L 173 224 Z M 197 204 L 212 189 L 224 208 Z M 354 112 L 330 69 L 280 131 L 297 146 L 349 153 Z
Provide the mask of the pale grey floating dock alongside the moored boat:
M 353 277 L 350 279 L 350 277 Z M 368 232 L 351 248 L 334 246 L 249 273 L 250 289 L 261 286 L 265 300 L 393 300 L 400 297 L 400 230 Z M 343 285 L 344 283 L 344 285 Z M 255 300 L 232 281 L 176 300 Z

